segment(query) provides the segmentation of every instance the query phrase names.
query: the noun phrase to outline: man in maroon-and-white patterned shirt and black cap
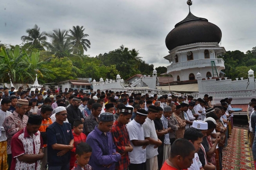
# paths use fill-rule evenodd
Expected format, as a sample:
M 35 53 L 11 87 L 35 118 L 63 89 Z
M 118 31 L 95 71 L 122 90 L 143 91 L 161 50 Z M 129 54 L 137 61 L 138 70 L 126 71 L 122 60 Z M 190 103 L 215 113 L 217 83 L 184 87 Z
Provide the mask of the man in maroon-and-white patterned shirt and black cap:
M 30 115 L 27 126 L 16 133 L 11 140 L 11 170 L 40 170 L 43 159 L 43 139 L 38 131 L 42 116 Z M 32 138 L 32 139 L 31 139 Z

